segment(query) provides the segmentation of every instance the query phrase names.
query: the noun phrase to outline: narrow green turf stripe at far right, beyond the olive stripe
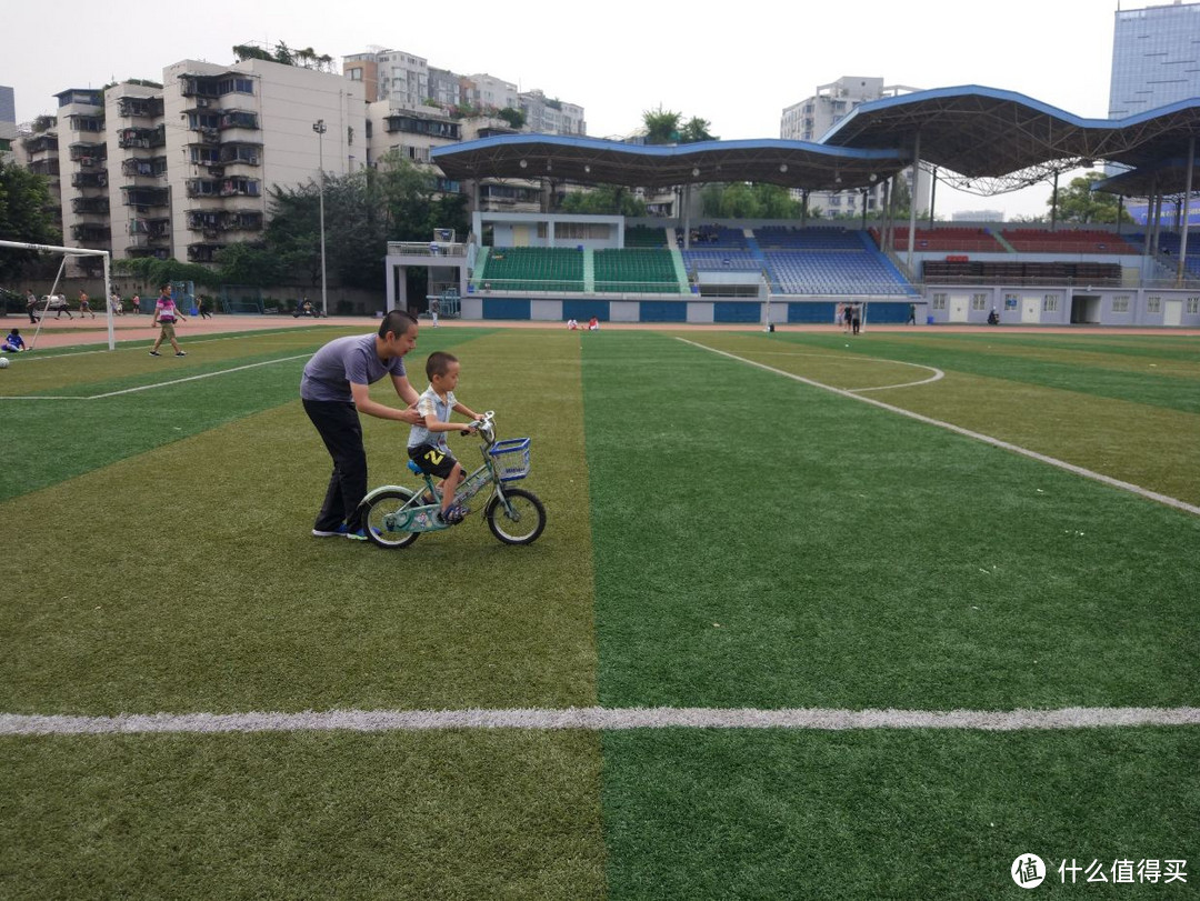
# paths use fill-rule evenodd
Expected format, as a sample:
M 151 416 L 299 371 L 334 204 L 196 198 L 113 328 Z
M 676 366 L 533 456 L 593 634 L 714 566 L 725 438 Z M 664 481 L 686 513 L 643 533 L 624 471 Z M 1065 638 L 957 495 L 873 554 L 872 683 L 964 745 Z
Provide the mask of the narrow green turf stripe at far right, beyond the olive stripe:
M 792 344 L 847 352 L 847 342 L 840 336 L 788 334 L 782 337 Z M 1094 364 L 1051 362 L 1008 354 L 978 354 L 968 348 L 961 350 L 930 348 L 883 335 L 872 335 L 869 341 L 851 341 L 848 352 L 1132 401 L 1184 413 L 1200 413 L 1200 379 L 1194 378 L 1156 376 L 1150 371 L 1129 372 Z

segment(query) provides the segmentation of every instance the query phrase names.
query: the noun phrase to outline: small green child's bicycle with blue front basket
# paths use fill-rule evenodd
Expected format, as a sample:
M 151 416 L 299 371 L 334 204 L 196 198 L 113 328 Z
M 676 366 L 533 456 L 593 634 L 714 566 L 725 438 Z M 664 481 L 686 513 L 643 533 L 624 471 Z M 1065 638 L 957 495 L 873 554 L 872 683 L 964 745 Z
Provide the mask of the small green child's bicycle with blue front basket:
M 463 479 L 455 503 L 466 504 L 492 486 L 492 497 L 484 506 L 484 518 L 492 534 L 506 545 L 532 545 L 546 528 L 546 507 L 533 492 L 509 487 L 529 474 L 529 439 L 496 440 L 494 418 L 496 414 L 488 410 L 472 424 L 482 439 L 484 464 Z M 422 531 L 450 528 L 439 516 L 442 497 L 433 477 L 412 461 L 408 468 L 425 479 L 424 491 L 384 485 L 370 492 L 360 505 L 362 528 L 379 547 L 408 547 Z M 426 503 L 430 497 L 433 501 Z

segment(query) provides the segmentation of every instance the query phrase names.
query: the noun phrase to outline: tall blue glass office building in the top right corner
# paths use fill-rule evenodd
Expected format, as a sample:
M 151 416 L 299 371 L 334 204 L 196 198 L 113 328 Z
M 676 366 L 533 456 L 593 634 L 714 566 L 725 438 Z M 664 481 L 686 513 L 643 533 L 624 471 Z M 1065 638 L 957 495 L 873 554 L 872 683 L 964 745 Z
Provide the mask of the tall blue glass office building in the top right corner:
M 1189 97 L 1200 97 L 1200 4 L 1117 11 L 1109 119 Z

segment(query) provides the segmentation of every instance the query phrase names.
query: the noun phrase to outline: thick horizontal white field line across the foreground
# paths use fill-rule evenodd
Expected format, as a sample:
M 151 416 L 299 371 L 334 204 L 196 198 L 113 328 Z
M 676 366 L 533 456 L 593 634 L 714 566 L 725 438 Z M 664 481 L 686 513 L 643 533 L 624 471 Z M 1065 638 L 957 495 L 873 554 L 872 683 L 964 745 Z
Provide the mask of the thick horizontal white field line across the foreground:
M 1078 729 L 1200 726 L 1195 707 L 1067 707 L 1056 710 L 836 710 L 826 708 L 516 708 L 504 710 L 324 710 L 241 714 L 40 716 L 0 714 L 0 735 L 234 732 L 426 732 L 444 729 Z

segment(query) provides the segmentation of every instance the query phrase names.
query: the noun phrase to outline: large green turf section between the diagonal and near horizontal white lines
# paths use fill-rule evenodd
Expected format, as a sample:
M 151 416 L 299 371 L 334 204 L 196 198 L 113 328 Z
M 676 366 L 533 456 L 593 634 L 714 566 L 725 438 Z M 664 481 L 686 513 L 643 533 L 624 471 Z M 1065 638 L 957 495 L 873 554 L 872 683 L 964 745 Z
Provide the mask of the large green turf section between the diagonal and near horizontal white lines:
M 602 705 L 1196 701 L 1195 517 L 665 336 L 593 337 Z

